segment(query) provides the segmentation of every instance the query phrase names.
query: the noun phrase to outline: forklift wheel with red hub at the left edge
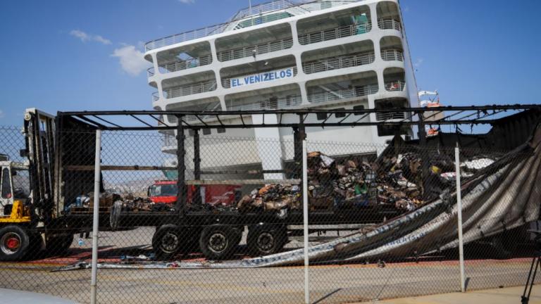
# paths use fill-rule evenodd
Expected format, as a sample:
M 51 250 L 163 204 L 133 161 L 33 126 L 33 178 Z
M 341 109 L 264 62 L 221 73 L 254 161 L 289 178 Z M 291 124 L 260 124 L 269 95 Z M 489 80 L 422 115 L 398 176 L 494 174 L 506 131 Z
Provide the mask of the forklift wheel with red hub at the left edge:
M 0 229 L 0 261 L 22 260 L 30 247 L 25 229 L 9 225 Z

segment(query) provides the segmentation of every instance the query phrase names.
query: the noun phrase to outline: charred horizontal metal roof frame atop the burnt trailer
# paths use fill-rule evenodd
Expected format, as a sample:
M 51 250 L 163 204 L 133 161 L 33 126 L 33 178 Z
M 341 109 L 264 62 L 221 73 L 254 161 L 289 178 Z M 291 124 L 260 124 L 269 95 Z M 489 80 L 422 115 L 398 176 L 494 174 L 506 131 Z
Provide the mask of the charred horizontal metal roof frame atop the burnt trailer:
M 125 131 L 148 131 L 148 130 L 166 130 L 177 129 L 175 125 L 167 125 L 163 120 L 156 118 L 156 115 L 172 115 L 175 117 L 180 116 L 178 120 L 181 122 L 184 129 L 240 129 L 240 128 L 256 128 L 256 127 L 299 127 L 300 124 L 304 127 L 357 127 L 357 126 L 411 126 L 419 125 L 419 122 L 413 120 L 415 116 L 422 115 L 425 112 L 454 112 L 450 115 L 446 115 L 441 120 L 426 121 L 426 125 L 481 125 L 491 124 L 496 120 L 485 119 L 497 113 L 505 112 L 507 110 L 530 110 L 541 109 L 541 105 L 493 105 L 493 106 L 442 106 L 435 108 L 389 108 L 389 109 L 363 109 L 363 110 L 314 110 L 314 109 L 301 109 L 301 110 L 250 110 L 250 111 L 156 111 L 156 110 L 117 110 L 117 111 L 83 111 L 83 112 L 58 112 L 58 116 L 66 117 L 70 116 L 78 120 L 83 120 L 93 127 L 97 127 L 103 130 L 125 130 Z M 374 122 L 361 122 L 362 118 L 370 114 L 377 113 L 410 113 L 408 118 L 402 120 L 384 120 Z M 337 122 L 307 122 L 306 118 L 310 115 L 317 115 L 318 113 L 325 113 L 328 117 L 335 114 L 342 114 L 345 117 Z M 454 116 L 460 113 L 466 114 L 461 118 L 454 118 Z M 244 120 L 249 115 L 278 115 L 278 122 L 266 123 L 263 119 L 262 123 L 248 123 Z M 283 115 L 299 115 L 301 121 L 298 123 L 282 122 Z M 361 119 L 356 121 L 347 121 L 352 115 L 362 115 Z M 106 120 L 105 116 L 128 116 L 134 118 L 138 125 L 123 126 L 118 125 L 116 122 Z M 188 122 L 183 118 L 190 116 L 195 118 L 195 122 Z M 432 115 L 434 116 L 434 115 Z M 472 118 L 472 116 L 475 116 Z M 142 118 L 148 117 L 152 120 L 156 120 L 158 125 L 151 125 L 149 122 Z M 210 119 L 209 119 L 210 118 Z M 229 123 L 227 120 L 231 118 L 240 118 L 242 123 Z M 452 119 L 453 118 L 453 119 Z M 426 119 L 426 118 L 425 118 Z M 97 122 L 96 120 L 99 120 Z M 104 125 L 106 123 L 107 125 Z

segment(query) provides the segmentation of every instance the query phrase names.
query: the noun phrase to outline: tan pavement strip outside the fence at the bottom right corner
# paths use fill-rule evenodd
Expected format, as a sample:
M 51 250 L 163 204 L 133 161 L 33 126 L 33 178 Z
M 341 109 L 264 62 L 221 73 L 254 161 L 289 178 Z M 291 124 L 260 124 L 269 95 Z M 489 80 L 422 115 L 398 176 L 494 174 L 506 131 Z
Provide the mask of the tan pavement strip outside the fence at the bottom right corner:
M 392 300 L 380 300 L 381 304 L 509 304 L 521 303 L 523 286 L 503 289 L 487 289 L 482 291 L 471 291 L 467 293 L 444 293 L 433 296 L 419 296 L 414 298 L 398 298 Z M 534 286 L 530 295 L 530 304 L 541 303 L 541 286 Z

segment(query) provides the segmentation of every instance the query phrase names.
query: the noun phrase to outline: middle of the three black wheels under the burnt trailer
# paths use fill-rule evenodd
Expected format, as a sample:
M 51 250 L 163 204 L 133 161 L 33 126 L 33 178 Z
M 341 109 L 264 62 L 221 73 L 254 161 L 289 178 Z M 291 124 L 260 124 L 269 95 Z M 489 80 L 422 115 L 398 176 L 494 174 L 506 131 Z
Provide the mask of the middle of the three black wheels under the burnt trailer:
M 213 224 L 204 227 L 199 237 L 199 249 L 209 260 L 225 260 L 237 246 L 238 232 L 229 226 Z

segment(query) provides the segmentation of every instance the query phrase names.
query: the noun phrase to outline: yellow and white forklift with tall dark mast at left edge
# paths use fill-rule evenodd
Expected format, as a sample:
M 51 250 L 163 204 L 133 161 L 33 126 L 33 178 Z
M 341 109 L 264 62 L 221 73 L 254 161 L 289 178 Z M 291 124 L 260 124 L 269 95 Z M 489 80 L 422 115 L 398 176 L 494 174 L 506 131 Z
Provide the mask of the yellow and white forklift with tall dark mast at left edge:
M 25 162 L 0 154 L 0 261 L 45 249 L 62 253 L 77 233 L 54 212 L 54 132 L 54 116 L 27 109 L 20 151 Z

